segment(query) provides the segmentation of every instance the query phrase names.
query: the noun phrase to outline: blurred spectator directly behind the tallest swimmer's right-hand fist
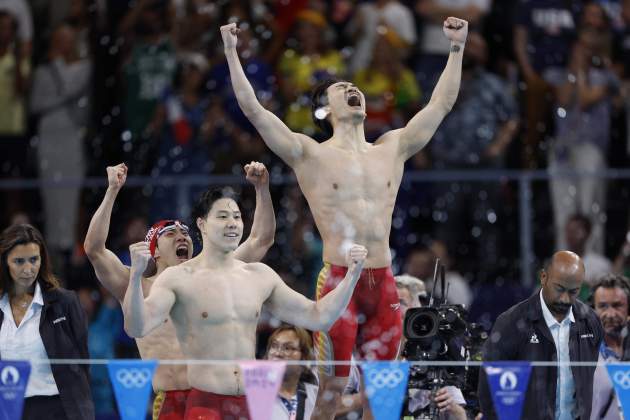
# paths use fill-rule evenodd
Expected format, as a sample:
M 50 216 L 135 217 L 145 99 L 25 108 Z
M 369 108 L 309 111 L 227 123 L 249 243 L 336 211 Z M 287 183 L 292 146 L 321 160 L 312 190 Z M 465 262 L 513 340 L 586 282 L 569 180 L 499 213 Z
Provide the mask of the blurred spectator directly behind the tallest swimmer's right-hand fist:
M 450 44 L 443 34 L 444 20 L 449 16 L 466 19 L 470 29 L 476 29 L 490 10 L 491 3 L 492 0 L 417 0 L 416 13 L 423 31 L 415 72 L 427 101 L 449 55 Z

